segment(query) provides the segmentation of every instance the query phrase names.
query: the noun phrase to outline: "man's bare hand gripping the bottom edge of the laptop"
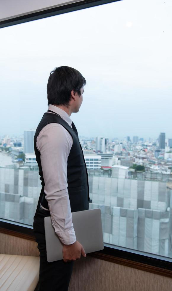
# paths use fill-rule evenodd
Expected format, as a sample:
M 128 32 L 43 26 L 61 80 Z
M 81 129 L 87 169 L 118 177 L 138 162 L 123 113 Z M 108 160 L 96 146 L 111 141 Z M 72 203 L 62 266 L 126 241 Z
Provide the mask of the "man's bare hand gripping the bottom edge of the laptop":
M 83 257 L 86 257 L 84 248 L 81 243 L 79 243 L 79 241 L 75 241 L 75 243 L 72 244 L 63 244 L 64 262 L 80 259 L 81 254 L 83 255 Z

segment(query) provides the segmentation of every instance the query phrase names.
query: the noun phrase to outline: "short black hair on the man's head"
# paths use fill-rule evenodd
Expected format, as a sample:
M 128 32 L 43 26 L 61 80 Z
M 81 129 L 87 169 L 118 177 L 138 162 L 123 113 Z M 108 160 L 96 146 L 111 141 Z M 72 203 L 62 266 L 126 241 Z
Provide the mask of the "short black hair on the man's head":
M 61 66 L 55 68 L 47 83 L 48 105 L 69 105 L 71 91 L 81 96 L 81 87 L 86 85 L 85 78 L 76 69 Z

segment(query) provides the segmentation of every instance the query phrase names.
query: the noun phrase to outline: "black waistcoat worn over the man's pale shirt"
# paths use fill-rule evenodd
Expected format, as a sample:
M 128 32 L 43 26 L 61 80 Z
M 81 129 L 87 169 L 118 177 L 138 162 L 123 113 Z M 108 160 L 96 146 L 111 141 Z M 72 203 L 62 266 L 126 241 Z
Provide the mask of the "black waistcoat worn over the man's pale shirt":
M 48 202 L 45 199 L 44 193 L 44 178 L 42 173 L 41 167 L 41 159 L 40 159 L 40 152 L 36 147 L 36 138 L 39 132 L 49 123 L 59 123 L 65 127 L 65 129 L 70 133 L 73 139 L 73 145 L 70 149 L 70 153 L 67 159 L 67 184 L 68 184 L 68 193 L 69 193 L 69 200 L 70 200 L 70 207 L 71 212 L 75 211 L 82 211 L 89 209 L 89 183 L 88 183 L 88 173 L 86 169 L 86 163 L 83 156 L 83 151 L 81 144 L 78 138 L 78 132 L 74 123 L 72 122 L 72 128 L 67 124 L 65 120 L 63 120 L 59 115 L 56 113 L 44 113 L 38 127 L 36 129 L 36 133 L 34 136 L 34 149 L 36 154 L 36 162 L 38 163 L 39 167 L 39 175 L 41 179 L 42 190 L 39 197 L 37 209 L 39 205 L 41 205 L 47 209 Z M 60 171 L 60 169 L 59 169 Z

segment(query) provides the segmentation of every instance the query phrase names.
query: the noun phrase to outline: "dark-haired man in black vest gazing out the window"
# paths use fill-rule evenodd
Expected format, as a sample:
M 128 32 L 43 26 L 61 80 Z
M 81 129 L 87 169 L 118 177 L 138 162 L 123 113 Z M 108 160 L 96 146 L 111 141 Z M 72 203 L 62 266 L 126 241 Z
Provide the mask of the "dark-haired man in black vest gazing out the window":
M 42 190 L 34 216 L 33 231 L 40 252 L 39 290 L 67 291 L 73 263 L 86 257 L 76 240 L 71 212 L 89 209 L 86 163 L 78 132 L 70 115 L 83 101 L 85 78 L 76 69 L 62 66 L 50 73 L 48 111 L 34 136 Z M 47 262 L 44 217 L 51 216 L 63 243 L 63 260 Z

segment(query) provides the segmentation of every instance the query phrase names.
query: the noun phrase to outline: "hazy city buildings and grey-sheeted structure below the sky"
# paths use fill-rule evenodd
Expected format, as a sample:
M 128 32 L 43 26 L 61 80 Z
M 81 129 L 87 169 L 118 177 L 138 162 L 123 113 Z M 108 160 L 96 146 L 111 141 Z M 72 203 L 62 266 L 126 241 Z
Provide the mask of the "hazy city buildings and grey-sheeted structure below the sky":
M 34 135 L 0 138 L 1 218 L 29 225 L 41 190 Z M 79 139 L 104 242 L 172 257 L 172 138 Z

